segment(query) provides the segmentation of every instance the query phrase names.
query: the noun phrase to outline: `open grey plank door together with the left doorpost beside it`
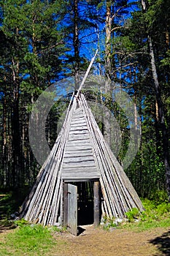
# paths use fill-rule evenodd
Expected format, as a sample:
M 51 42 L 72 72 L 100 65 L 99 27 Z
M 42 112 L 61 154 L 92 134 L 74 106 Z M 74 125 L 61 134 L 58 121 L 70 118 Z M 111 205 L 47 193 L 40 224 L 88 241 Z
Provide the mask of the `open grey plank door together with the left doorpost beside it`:
M 77 186 L 72 184 L 64 186 L 63 219 L 69 232 L 77 236 Z

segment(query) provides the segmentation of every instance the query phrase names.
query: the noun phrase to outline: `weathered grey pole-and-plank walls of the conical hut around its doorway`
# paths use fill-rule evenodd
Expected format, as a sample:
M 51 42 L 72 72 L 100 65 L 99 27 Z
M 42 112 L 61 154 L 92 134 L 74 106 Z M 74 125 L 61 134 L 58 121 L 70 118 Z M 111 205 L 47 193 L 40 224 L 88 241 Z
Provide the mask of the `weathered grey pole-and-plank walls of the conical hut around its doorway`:
M 95 180 L 101 187 L 103 216 L 123 218 L 131 208 L 144 210 L 79 91 L 72 97 L 61 132 L 21 207 L 20 217 L 55 225 L 63 215 L 63 182 Z

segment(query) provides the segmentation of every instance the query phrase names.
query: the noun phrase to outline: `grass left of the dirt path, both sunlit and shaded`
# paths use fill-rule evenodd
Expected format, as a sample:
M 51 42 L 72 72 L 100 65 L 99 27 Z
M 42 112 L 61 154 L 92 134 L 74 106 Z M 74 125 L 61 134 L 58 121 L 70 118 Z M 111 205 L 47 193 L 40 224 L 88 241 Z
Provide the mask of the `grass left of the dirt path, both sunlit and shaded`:
M 0 192 L 0 256 L 50 255 L 50 252 L 53 255 L 53 249 L 57 251 L 62 246 L 53 236 L 58 231 L 55 227 L 28 225 L 23 219 L 9 220 L 22 201 L 16 192 Z M 9 231 L 1 233 L 1 230 Z

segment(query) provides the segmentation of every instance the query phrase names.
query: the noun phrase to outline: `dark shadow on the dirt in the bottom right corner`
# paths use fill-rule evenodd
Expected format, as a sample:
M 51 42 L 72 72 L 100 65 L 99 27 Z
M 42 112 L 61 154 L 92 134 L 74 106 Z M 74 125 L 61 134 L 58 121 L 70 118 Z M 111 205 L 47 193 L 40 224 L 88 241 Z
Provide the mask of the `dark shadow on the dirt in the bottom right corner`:
M 170 230 L 166 233 L 163 233 L 162 236 L 158 236 L 150 240 L 150 244 L 157 246 L 161 254 L 159 255 L 170 255 Z M 158 255 L 155 255 L 158 256 Z

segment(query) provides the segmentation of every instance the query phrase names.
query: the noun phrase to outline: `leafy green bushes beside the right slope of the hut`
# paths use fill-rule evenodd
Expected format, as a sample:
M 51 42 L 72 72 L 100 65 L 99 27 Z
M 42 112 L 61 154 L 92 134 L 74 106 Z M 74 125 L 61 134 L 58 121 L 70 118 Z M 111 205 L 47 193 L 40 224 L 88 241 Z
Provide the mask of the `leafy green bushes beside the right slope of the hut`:
M 139 196 L 147 197 L 152 200 L 158 199 L 160 196 L 167 199 L 167 193 L 164 190 L 165 171 L 163 160 L 158 156 L 156 149 L 157 142 L 150 139 L 150 133 L 153 135 L 154 131 L 150 129 L 150 132 L 148 132 L 147 128 L 144 126 L 145 124 L 142 126 L 143 136 L 141 148 L 136 154 L 136 158 L 131 166 L 128 167 L 125 172 Z M 158 149 L 161 151 L 161 147 Z M 162 153 L 160 154 L 162 155 Z M 158 195 L 159 193 L 160 195 Z

